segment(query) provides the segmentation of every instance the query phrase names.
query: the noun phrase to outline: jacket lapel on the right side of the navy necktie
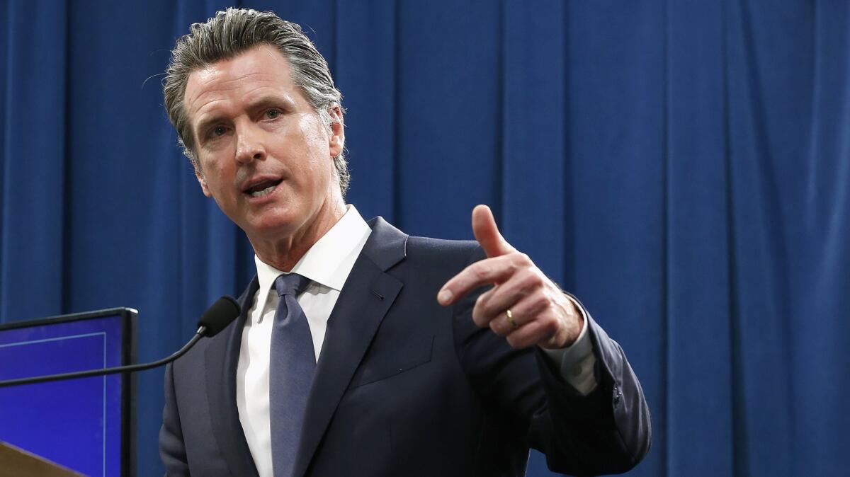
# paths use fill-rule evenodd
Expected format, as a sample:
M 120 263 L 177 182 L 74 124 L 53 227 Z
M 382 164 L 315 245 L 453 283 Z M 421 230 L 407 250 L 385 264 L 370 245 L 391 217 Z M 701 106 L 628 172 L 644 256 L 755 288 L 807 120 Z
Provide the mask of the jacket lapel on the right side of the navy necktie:
M 407 236 L 381 217 L 370 225 L 372 233 L 328 318 L 304 417 L 295 475 L 307 472 L 354 371 L 402 288 L 402 283 L 385 271 L 405 257 Z

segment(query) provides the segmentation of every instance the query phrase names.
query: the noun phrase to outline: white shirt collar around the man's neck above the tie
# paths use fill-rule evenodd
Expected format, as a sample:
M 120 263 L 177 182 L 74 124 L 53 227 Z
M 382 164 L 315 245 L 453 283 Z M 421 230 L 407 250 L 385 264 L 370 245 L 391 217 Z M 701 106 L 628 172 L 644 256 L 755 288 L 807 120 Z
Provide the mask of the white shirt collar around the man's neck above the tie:
M 292 267 L 292 272 L 327 288 L 341 291 L 370 233 L 371 228 L 360 216 L 360 212 L 354 205 L 348 205 L 343 217 L 307 250 L 295 267 Z M 268 295 L 275 278 L 285 272 L 261 261 L 257 255 L 254 255 L 254 263 L 257 266 L 260 285 L 258 296 Z

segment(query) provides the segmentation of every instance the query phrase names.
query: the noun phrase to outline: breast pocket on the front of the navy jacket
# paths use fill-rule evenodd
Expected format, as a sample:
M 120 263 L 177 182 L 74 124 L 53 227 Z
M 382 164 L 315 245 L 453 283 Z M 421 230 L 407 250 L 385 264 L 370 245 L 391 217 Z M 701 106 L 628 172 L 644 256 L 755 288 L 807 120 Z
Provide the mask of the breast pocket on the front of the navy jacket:
M 409 342 L 373 346 L 348 384 L 348 389 L 392 378 L 431 361 L 433 335 Z

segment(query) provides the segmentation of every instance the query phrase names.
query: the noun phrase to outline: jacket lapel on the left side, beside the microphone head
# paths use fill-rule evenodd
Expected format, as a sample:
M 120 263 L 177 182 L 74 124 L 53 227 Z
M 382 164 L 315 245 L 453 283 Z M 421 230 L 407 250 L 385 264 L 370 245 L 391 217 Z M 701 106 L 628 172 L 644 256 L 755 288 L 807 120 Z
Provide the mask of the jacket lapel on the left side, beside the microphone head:
M 212 433 L 230 473 L 234 475 L 258 476 L 236 407 L 236 367 L 239 364 L 242 329 L 258 287 L 255 277 L 239 298 L 242 307 L 240 317 L 219 334 L 218 339 L 207 345 L 204 356 Z

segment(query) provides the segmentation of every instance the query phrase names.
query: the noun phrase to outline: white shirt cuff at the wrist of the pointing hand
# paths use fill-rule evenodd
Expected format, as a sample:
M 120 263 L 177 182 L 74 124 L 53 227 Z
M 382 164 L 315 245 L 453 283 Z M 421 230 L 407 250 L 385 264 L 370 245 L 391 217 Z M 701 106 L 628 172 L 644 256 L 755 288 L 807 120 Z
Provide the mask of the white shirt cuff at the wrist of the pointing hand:
M 567 295 L 567 298 L 581 311 L 581 317 L 584 319 L 581 333 L 572 345 L 558 350 L 543 350 L 543 352 L 558 368 L 561 378 L 582 395 L 587 396 L 596 389 L 597 385 L 596 375 L 593 373 L 596 356 L 593 356 L 593 342 L 587 333 L 587 311 L 570 295 Z

